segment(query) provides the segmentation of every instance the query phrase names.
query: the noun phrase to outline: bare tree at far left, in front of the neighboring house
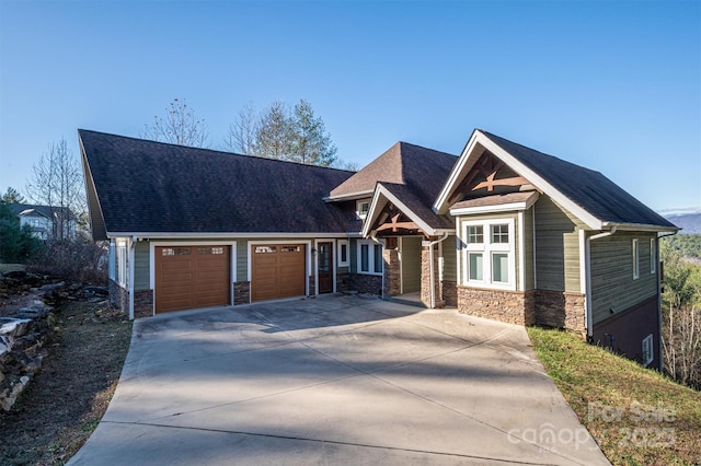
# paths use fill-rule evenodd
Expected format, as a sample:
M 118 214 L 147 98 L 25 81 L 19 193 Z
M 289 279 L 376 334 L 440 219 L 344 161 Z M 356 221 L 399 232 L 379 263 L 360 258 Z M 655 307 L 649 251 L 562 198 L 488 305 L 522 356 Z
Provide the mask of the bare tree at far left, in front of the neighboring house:
M 64 241 L 74 236 L 78 218 L 84 218 L 87 200 L 78 160 L 65 138 L 48 144 L 34 164 L 26 185 L 32 201 L 53 208 L 53 237 Z

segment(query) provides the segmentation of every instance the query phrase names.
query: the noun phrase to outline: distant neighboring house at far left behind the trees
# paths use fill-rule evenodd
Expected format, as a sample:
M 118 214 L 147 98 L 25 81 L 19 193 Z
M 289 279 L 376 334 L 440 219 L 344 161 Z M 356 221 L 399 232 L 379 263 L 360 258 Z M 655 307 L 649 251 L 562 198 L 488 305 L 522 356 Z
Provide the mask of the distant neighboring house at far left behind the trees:
M 76 215 L 68 208 L 36 206 L 28 203 L 10 203 L 10 210 L 20 221 L 20 228 L 28 225 L 32 234 L 39 240 L 76 238 Z

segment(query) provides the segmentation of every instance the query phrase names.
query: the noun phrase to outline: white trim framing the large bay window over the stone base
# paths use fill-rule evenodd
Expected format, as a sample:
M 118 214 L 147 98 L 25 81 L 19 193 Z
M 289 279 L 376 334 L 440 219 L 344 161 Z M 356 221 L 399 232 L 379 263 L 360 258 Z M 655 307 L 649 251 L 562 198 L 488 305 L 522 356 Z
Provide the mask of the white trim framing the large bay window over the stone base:
M 508 225 L 508 243 L 492 243 L 492 225 L 507 224 Z M 468 243 L 468 228 L 482 225 L 483 226 L 483 243 L 470 244 Z M 491 220 L 470 220 L 462 224 L 462 238 L 463 243 L 462 253 L 462 284 L 476 286 L 481 288 L 491 288 L 496 290 L 516 290 L 516 230 L 514 219 L 491 219 Z M 482 280 L 470 280 L 470 253 L 482 253 Z M 492 254 L 493 253 L 507 253 L 508 255 L 508 282 L 495 282 L 492 280 Z

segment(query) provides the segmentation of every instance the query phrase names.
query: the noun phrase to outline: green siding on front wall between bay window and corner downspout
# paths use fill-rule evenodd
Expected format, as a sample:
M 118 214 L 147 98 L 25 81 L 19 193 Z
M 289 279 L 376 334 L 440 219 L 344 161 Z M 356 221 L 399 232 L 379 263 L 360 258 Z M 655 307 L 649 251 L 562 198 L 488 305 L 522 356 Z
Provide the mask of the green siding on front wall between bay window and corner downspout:
M 536 206 L 536 287 L 540 290 L 583 292 L 579 283 L 577 218 L 543 196 Z

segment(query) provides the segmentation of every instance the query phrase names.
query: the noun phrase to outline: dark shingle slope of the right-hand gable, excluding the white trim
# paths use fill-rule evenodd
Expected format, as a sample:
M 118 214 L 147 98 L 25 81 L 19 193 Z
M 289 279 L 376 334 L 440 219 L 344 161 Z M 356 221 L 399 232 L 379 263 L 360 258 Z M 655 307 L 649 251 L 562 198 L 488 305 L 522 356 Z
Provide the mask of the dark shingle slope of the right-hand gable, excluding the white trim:
M 676 228 L 599 172 L 565 162 L 490 132 L 482 132 L 602 222 Z

